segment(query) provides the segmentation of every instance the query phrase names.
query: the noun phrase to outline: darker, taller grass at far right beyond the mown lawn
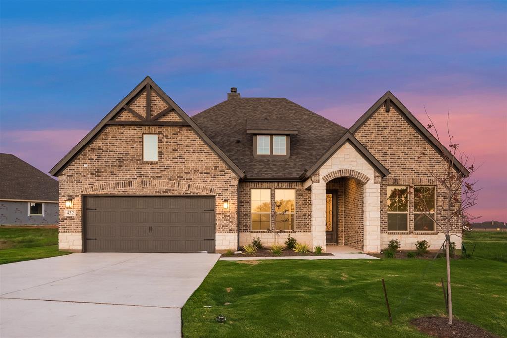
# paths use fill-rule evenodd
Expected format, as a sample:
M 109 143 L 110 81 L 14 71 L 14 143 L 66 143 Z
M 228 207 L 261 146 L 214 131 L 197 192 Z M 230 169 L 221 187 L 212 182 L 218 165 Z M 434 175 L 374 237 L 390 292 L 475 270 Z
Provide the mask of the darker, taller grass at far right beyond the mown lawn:
M 471 232 L 465 234 L 463 243 L 467 253 L 474 256 L 507 262 L 507 233 L 506 232 Z

